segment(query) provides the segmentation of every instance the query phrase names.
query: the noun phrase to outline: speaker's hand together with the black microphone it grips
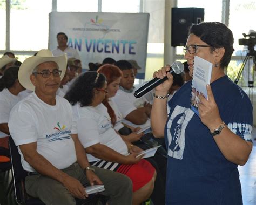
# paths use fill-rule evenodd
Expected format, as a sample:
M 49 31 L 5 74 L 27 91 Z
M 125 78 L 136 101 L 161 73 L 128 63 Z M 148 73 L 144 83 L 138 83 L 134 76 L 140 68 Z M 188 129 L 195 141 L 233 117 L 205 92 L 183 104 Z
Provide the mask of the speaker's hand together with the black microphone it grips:
M 183 63 L 177 61 L 174 62 L 171 66 L 166 65 L 162 69 L 154 72 L 154 78 L 147 82 L 146 84 L 139 87 L 136 91 L 134 91 L 134 96 L 136 98 L 142 97 L 147 92 L 153 90 L 153 88 L 157 87 L 158 85 L 162 84 L 160 87 L 157 88 L 159 92 L 167 92 L 172 85 L 173 77 L 175 74 L 180 74 L 184 70 Z M 171 76 L 172 75 L 172 76 Z

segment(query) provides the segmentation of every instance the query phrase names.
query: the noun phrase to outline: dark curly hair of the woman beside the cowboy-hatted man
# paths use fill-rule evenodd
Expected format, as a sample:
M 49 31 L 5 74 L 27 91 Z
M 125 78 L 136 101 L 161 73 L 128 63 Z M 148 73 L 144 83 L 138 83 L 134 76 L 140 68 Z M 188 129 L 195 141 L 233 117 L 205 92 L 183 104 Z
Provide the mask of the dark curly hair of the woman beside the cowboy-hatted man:
M 106 78 L 103 74 L 87 71 L 75 80 L 64 98 L 71 105 L 79 103 L 81 107 L 89 106 L 94 98 L 93 88 L 102 88 L 105 82 Z

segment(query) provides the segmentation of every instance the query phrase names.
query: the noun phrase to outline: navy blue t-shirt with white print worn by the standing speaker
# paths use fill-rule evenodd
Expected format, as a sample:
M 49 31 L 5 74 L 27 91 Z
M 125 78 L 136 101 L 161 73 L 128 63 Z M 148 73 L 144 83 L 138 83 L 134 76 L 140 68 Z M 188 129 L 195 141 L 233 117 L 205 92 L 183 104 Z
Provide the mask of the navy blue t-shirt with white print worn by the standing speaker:
M 238 165 L 225 159 L 209 129 L 190 110 L 191 81 L 169 101 L 166 204 L 242 204 Z M 227 76 L 211 84 L 221 119 L 252 142 L 252 104 Z

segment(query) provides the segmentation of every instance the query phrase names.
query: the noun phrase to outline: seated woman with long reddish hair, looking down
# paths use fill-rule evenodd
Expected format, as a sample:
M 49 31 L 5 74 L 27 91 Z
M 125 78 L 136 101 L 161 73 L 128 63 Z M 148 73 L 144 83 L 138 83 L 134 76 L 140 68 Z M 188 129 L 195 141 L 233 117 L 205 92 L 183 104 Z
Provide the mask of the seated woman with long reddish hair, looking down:
M 148 145 L 140 141 L 143 133 L 137 134 L 140 127 L 131 127 L 122 124 L 123 115 L 118 110 L 116 103 L 112 100 L 112 97 L 116 95 L 119 89 L 119 83 L 122 77 L 122 71 L 119 67 L 106 64 L 99 68 L 98 73 L 104 74 L 107 80 L 107 93 L 103 100 L 103 104 L 107 107 L 107 112 L 111 117 L 112 126 L 116 131 L 126 140 L 133 142 L 134 145 L 142 149 L 149 148 Z M 147 137 L 147 136 L 143 136 Z M 157 146 L 157 144 L 155 145 Z M 158 152 L 152 158 L 146 158 L 147 161 L 154 166 L 157 171 L 156 182 L 154 183 L 154 190 L 151 195 L 151 199 L 154 203 L 165 204 L 165 180 L 166 180 L 166 164 L 167 160 Z

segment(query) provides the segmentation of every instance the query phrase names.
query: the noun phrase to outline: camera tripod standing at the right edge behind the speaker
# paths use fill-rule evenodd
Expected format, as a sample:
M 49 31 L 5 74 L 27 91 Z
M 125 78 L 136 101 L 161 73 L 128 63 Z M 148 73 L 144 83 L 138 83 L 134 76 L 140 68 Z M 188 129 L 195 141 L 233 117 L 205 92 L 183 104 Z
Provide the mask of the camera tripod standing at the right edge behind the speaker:
M 254 51 L 254 46 L 248 46 L 249 52 L 246 54 L 246 57 L 244 59 L 244 61 L 242 61 L 242 66 L 238 72 L 237 78 L 235 78 L 234 83 L 238 83 L 242 71 L 244 71 L 245 65 L 248 61 L 248 63 L 250 62 L 250 59 L 252 59 L 253 61 L 253 70 L 252 70 L 252 79 L 250 80 L 250 71 L 248 71 L 248 87 L 249 87 L 249 93 L 248 96 L 251 99 L 252 103 L 253 103 L 253 87 L 254 87 L 254 70 L 255 70 L 255 58 L 256 58 L 256 52 Z M 248 70 L 250 70 L 250 65 L 248 65 Z

